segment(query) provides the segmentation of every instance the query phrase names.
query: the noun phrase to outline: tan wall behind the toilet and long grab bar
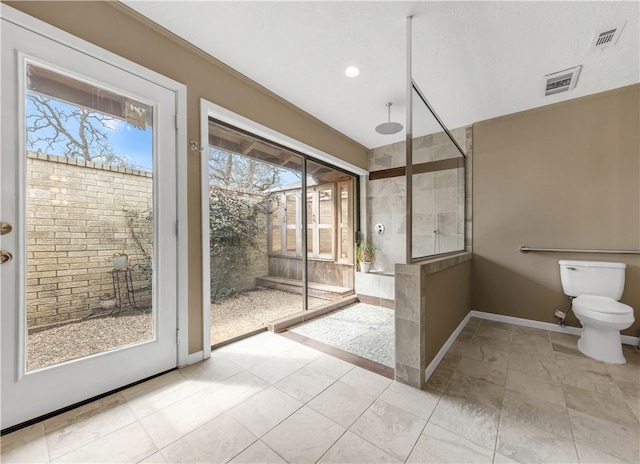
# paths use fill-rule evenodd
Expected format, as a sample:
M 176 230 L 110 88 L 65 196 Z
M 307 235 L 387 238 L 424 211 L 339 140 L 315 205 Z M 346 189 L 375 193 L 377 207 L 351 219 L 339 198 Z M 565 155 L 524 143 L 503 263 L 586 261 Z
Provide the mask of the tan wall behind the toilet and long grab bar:
M 518 248 L 640 249 L 639 108 L 634 85 L 474 125 L 472 309 L 553 322 L 559 259 L 621 261 L 638 335 L 640 256 Z

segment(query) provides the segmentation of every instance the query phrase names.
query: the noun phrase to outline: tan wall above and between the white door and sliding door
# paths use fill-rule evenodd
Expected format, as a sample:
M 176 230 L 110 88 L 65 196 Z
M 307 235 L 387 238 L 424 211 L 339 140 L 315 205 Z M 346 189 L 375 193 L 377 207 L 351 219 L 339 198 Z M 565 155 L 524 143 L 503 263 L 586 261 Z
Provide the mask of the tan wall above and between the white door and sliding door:
M 163 32 L 119 2 L 4 3 L 187 86 L 187 137 L 200 140 L 205 98 L 352 164 L 366 168 L 367 151 L 282 98 L 193 46 Z M 199 159 L 189 152 L 189 352 L 202 349 Z

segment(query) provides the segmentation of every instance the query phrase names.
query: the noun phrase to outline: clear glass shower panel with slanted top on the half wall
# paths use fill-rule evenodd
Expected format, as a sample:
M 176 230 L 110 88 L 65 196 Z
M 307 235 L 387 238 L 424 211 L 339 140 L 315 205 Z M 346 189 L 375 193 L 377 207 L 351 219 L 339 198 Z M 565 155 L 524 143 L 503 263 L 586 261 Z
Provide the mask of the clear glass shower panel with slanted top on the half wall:
M 413 90 L 413 259 L 464 249 L 464 157 Z

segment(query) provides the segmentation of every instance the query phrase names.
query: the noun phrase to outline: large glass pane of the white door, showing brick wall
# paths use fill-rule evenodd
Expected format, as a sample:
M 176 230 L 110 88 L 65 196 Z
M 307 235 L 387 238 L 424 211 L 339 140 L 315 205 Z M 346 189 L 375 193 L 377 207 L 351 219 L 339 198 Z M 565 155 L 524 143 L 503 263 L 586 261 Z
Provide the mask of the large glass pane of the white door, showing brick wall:
M 28 63 L 27 371 L 154 338 L 153 108 Z

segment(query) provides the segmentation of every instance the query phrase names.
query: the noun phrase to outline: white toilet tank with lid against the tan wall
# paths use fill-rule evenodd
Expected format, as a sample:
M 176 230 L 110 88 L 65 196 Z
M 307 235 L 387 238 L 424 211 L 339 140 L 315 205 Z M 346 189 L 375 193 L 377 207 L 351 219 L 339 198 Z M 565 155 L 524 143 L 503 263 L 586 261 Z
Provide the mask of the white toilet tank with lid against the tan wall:
M 627 265 L 606 261 L 561 260 L 560 280 L 565 295 L 600 295 L 622 298 Z

